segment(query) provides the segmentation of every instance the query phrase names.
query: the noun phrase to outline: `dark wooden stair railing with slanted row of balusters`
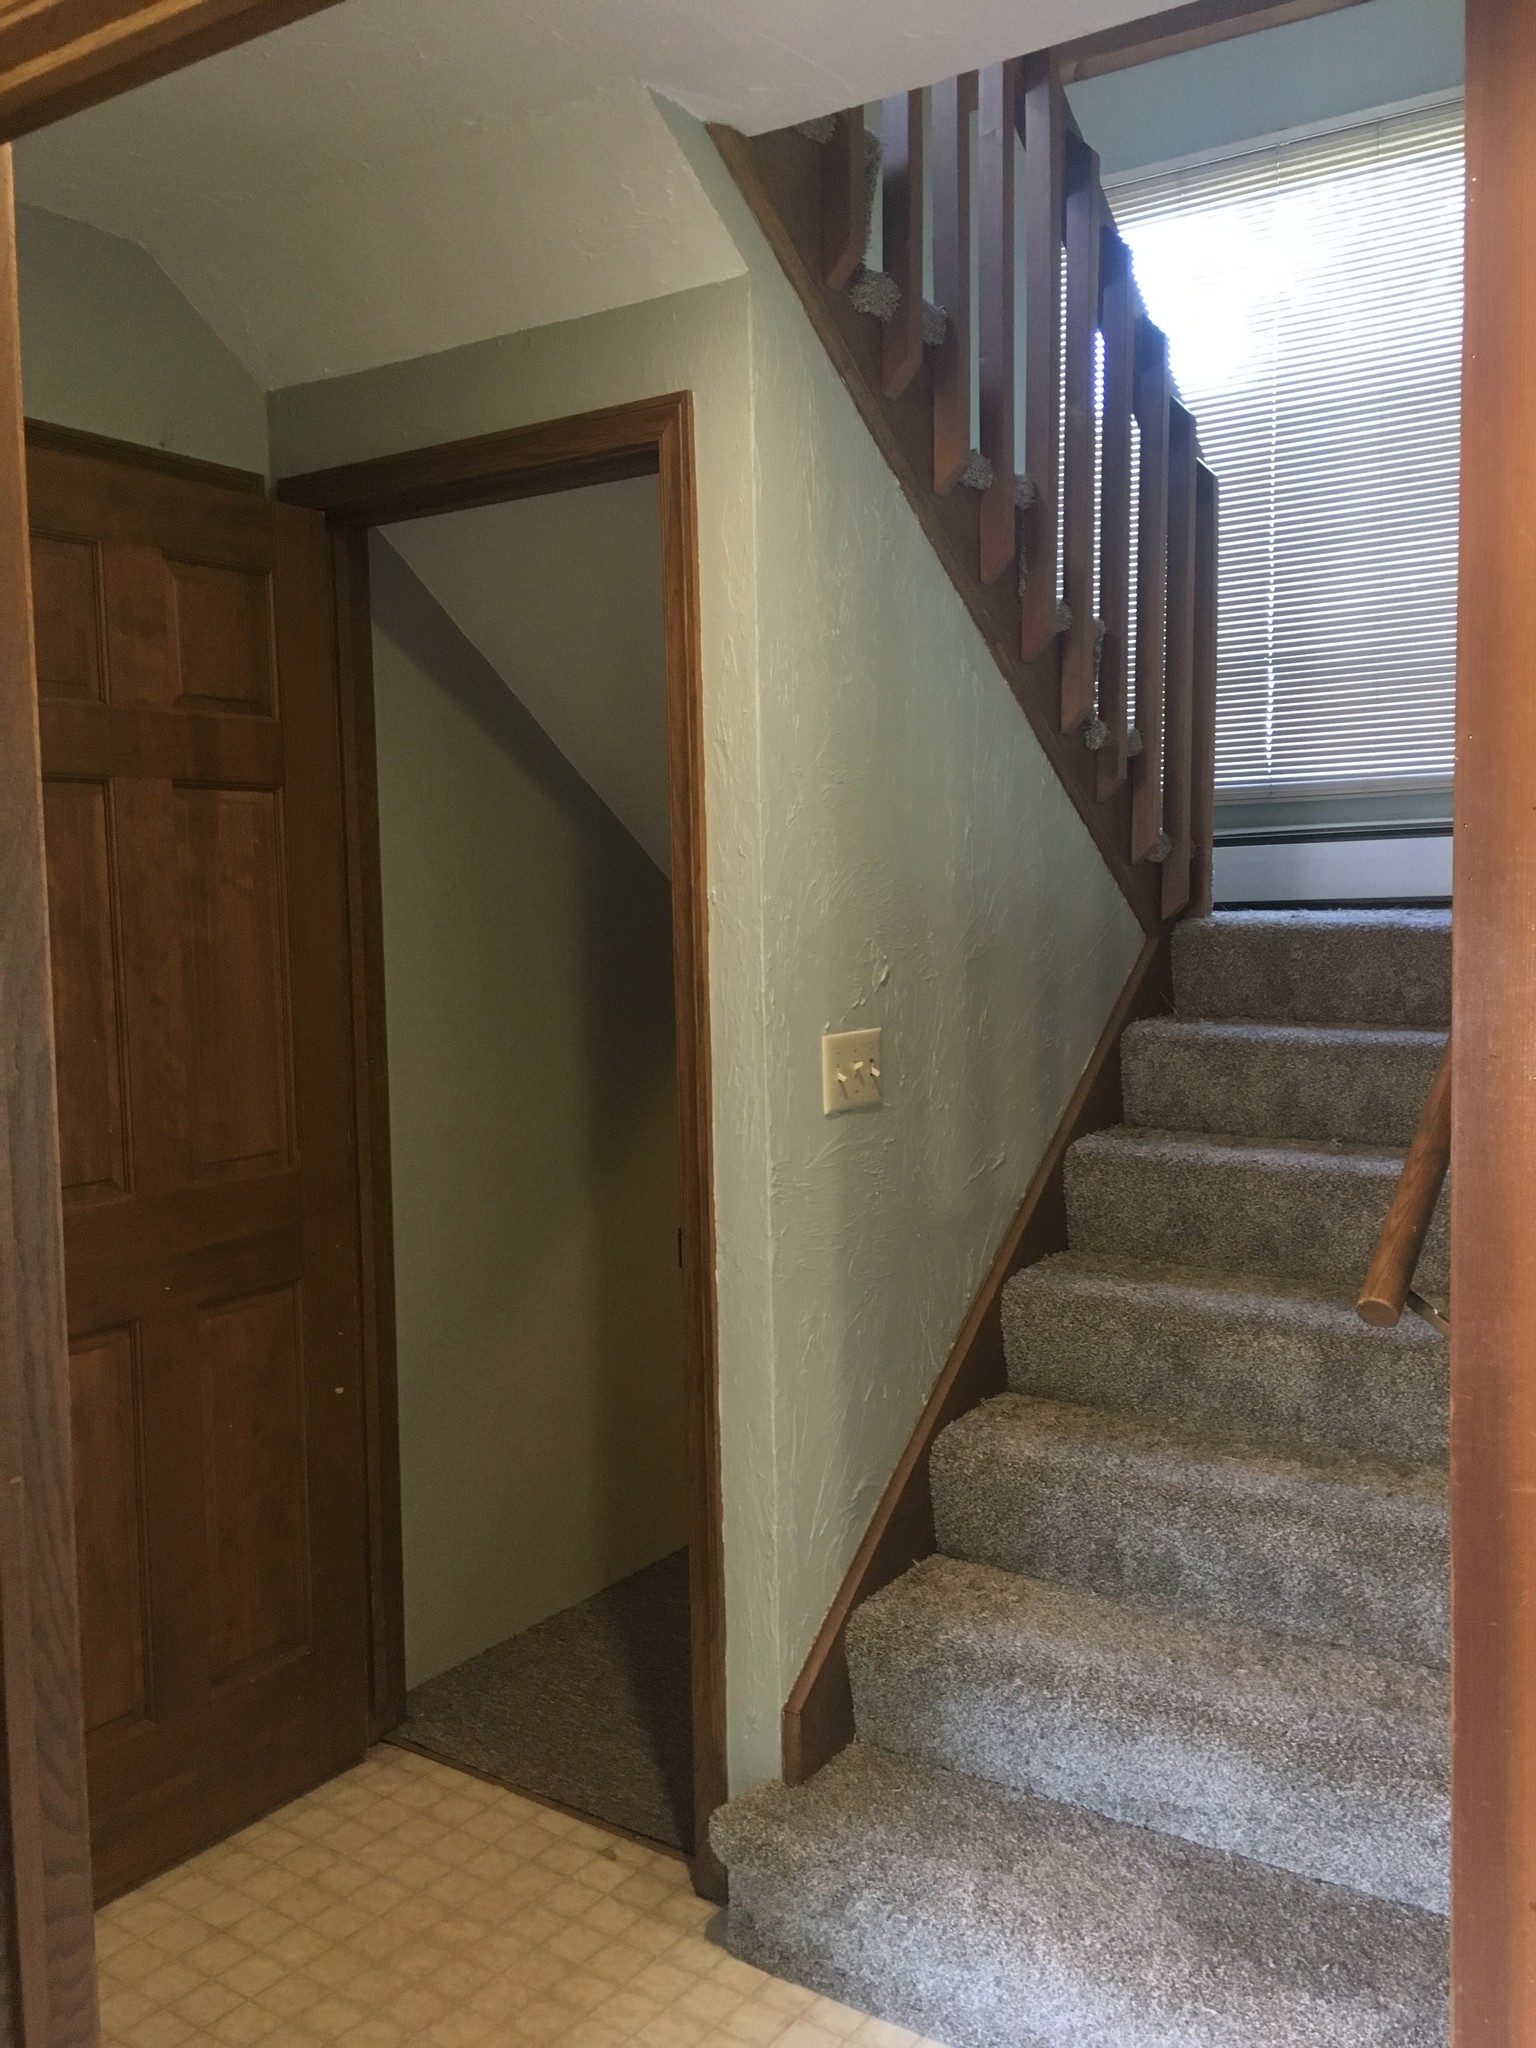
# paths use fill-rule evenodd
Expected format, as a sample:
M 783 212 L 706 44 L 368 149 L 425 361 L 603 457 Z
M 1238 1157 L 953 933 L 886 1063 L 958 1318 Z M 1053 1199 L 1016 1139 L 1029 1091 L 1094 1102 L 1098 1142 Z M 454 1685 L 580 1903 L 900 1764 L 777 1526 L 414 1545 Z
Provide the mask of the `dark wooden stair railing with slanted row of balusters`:
M 1217 479 L 1053 55 L 715 139 L 1133 901 L 1204 913 Z

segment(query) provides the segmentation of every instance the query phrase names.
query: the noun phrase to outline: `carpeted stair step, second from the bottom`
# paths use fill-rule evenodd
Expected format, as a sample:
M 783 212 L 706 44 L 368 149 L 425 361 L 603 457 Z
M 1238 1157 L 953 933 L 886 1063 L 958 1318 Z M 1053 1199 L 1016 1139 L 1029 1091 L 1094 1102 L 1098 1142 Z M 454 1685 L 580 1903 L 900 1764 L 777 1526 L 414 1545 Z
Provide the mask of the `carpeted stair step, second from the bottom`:
M 934 1556 L 854 1614 L 864 1743 L 1448 1911 L 1450 1683 Z

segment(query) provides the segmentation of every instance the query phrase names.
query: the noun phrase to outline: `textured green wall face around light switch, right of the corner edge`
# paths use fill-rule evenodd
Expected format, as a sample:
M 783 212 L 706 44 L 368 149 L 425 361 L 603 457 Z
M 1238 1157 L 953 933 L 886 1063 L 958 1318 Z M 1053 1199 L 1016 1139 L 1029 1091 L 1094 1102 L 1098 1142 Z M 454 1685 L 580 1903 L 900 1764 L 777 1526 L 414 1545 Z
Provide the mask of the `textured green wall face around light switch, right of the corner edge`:
M 678 133 L 754 291 L 782 1704 L 1141 932 L 713 147 Z M 883 1028 L 887 1106 L 827 1120 L 819 1036 L 854 1024 Z

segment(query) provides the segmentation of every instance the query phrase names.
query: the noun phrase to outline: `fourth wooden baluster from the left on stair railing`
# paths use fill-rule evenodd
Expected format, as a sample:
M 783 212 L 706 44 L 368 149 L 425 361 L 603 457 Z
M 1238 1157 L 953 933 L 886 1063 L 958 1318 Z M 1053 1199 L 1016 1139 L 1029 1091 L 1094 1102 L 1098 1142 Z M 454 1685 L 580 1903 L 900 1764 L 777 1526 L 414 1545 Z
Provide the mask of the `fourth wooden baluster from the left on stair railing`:
M 981 74 L 981 453 L 991 483 L 981 494 L 979 573 L 995 584 L 1018 553 L 1016 307 L 1018 279 L 1018 82 L 1020 63 Z

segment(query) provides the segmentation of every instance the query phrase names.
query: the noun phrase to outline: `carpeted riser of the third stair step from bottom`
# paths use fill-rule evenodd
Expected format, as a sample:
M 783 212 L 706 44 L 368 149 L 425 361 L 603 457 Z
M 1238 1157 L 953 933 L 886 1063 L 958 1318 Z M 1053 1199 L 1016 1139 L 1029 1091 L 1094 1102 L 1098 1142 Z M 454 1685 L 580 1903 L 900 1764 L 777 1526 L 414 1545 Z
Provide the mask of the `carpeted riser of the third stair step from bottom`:
M 1036 1579 L 1247 1628 L 1444 1665 L 1444 1518 L 1337 1491 L 1294 1501 L 1186 1491 L 1112 1462 L 1053 1466 L 973 1454 L 948 1430 L 932 1456 L 938 1548 Z

